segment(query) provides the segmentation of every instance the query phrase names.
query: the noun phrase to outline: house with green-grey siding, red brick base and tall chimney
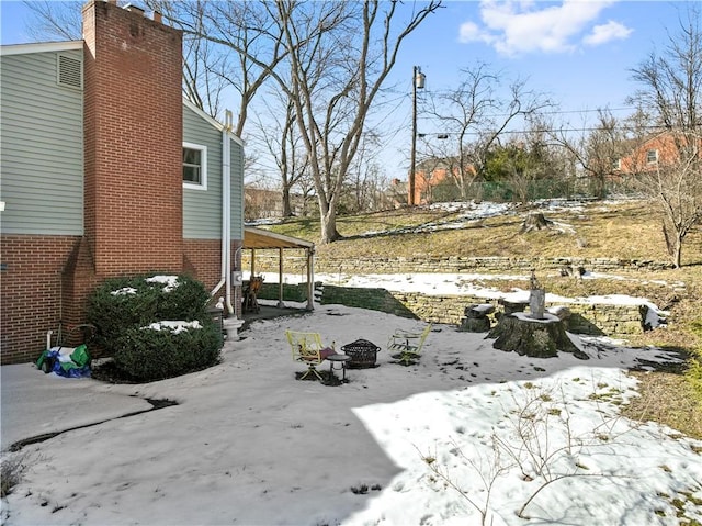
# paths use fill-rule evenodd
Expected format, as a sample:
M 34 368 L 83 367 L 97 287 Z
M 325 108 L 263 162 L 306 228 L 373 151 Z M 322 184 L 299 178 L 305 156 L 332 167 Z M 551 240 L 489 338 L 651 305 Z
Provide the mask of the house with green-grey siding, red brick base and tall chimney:
M 159 13 L 82 16 L 82 41 L 0 53 L 2 363 L 83 323 L 110 277 L 188 272 L 240 312 L 241 141 L 183 100 L 182 34 Z

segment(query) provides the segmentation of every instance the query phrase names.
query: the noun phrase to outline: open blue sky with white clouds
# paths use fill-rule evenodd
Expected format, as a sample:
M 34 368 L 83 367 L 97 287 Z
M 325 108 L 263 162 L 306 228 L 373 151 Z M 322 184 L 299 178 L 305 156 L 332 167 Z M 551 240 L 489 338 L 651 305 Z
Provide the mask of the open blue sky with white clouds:
M 550 96 L 563 111 L 623 109 L 626 97 L 637 88 L 630 69 L 660 49 L 668 31 L 677 33 L 686 3 L 448 1 L 409 35 L 390 81 L 399 94 L 409 94 L 412 66 L 419 66 L 427 76 L 427 91 L 445 91 L 457 85 L 462 68 L 483 61 L 506 78 L 528 79 L 531 89 Z M 407 0 L 404 9 L 419 4 Z M 0 9 L 2 44 L 30 42 L 26 24 L 31 18 L 23 2 L 2 0 Z M 401 103 L 396 113 L 387 125 L 397 128 L 399 144 L 390 149 L 398 159 L 406 159 L 408 139 L 403 130 L 408 126 L 410 109 Z M 621 110 L 615 115 L 624 113 Z M 581 123 L 578 113 L 564 114 L 564 119 Z

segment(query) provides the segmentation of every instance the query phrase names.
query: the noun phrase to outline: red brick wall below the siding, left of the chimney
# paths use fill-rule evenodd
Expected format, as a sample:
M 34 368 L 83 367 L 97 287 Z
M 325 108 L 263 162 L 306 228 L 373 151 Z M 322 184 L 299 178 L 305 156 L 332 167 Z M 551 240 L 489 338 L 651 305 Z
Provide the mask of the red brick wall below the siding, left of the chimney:
M 2 236 L 2 363 L 36 360 L 46 347 L 46 332 L 57 332 L 61 315 L 69 323 L 69 313 L 61 313 L 61 273 L 79 244 L 78 236 Z

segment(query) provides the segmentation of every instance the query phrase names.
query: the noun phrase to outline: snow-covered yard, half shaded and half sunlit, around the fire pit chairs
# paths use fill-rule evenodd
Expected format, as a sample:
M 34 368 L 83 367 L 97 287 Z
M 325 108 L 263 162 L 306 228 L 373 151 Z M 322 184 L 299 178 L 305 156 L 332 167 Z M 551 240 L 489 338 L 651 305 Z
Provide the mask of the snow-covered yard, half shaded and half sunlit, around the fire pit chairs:
M 318 305 L 253 323 L 246 339 L 227 342 L 216 367 L 139 385 L 3 366 L 3 385 L 21 374 L 25 388 L 73 390 L 70 407 L 82 421 L 125 401 L 178 405 L 4 451 L 5 460 L 24 456 L 27 468 L 2 501 L 2 522 L 642 526 L 680 524 L 680 513 L 702 521 L 702 441 L 619 413 L 636 396 L 625 370 L 672 355 L 574 336 L 589 360 L 534 359 L 437 325 L 417 365 L 382 350 L 380 367 L 326 387 L 295 380 L 304 367 L 284 335 L 315 331 L 337 348 L 358 338 L 384 348 L 394 329 L 422 326 Z M 4 400 L 3 415 L 23 407 Z M 54 429 L 24 425 L 38 434 L 70 423 L 66 411 Z

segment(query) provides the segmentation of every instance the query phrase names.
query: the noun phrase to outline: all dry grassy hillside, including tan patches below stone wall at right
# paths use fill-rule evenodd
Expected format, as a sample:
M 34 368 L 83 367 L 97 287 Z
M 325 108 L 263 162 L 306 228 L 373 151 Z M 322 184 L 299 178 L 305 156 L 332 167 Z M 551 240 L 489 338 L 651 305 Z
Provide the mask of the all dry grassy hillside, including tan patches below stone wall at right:
M 318 245 L 317 257 L 584 257 L 669 262 L 661 223 L 652 203 L 590 202 L 569 209 L 544 208 L 540 211 L 554 222 L 553 228 L 520 233 L 523 219 L 533 211 L 511 208 L 498 215 L 466 220 L 465 210 L 437 206 L 340 216 L 337 230 L 343 238 Z M 319 240 L 319 222 L 315 219 L 293 219 L 268 228 Z M 686 238 L 682 256 L 683 268 L 677 270 L 630 270 L 597 280 L 539 278 L 548 292 L 568 296 L 648 298 L 670 312 L 668 326 L 642 335 L 634 344 L 702 354 L 702 225 Z M 523 287 L 523 282 L 508 280 L 490 284 L 503 290 Z M 688 371 L 687 382 L 680 372 L 639 374 L 642 399 L 631 412 L 702 438 L 702 367 Z

